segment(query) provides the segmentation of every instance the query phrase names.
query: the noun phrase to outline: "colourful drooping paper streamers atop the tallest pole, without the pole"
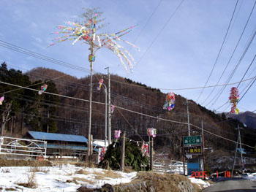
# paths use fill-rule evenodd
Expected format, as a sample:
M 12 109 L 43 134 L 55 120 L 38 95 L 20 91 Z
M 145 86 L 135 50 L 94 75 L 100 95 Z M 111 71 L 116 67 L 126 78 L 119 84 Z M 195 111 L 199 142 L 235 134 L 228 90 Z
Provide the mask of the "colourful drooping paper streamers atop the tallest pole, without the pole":
M 124 66 L 124 69 L 127 71 L 127 73 L 127 65 L 129 66 L 130 71 L 133 72 L 133 64 L 136 64 L 136 62 L 134 58 L 132 58 L 132 55 L 129 53 L 129 51 L 122 47 L 118 42 L 126 43 L 140 51 L 140 49 L 132 43 L 120 39 L 120 37 L 124 36 L 125 34 L 128 34 L 130 31 L 132 31 L 132 28 L 138 25 L 130 26 L 129 28 L 118 31 L 114 34 L 96 34 L 96 25 L 97 11 L 94 13 L 94 18 L 89 19 L 86 25 L 80 25 L 79 23 L 68 21 L 65 23 L 65 25 L 56 26 L 55 28 L 59 31 L 52 32 L 51 34 L 64 35 L 61 37 L 57 37 L 56 39 L 53 39 L 54 42 L 48 45 L 48 47 L 55 45 L 56 42 L 64 42 L 67 40 L 71 40 L 72 45 L 75 45 L 75 43 L 78 41 L 83 41 L 86 44 L 93 45 L 95 50 L 101 47 L 105 47 L 116 54 L 116 56 L 119 58 L 121 64 Z M 130 59 L 132 61 L 130 61 Z M 94 54 L 89 55 L 89 61 L 95 61 Z M 127 65 L 124 63 L 124 61 L 127 63 Z

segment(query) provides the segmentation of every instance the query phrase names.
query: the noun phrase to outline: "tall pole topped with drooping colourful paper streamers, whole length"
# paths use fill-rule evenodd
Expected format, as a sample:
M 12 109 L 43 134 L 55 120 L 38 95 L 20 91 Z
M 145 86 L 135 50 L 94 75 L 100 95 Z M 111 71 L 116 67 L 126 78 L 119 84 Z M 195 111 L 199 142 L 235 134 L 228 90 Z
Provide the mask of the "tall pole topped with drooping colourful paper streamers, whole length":
M 129 53 L 129 51 L 124 48 L 121 44 L 126 43 L 128 45 L 131 45 L 132 47 L 135 47 L 136 49 L 140 50 L 138 47 L 133 45 L 130 42 L 127 42 L 123 39 L 120 39 L 121 36 L 124 34 L 128 34 L 130 31 L 132 31 L 132 28 L 135 26 L 130 26 L 129 28 L 126 28 L 124 30 L 118 31 L 113 34 L 96 34 L 96 30 L 99 28 L 102 28 L 103 25 L 97 26 L 98 23 L 100 23 L 102 20 L 97 20 L 97 18 L 100 18 L 102 15 L 102 12 L 97 12 L 97 9 L 86 9 L 86 12 L 83 14 L 83 17 L 86 18 L 85 21 L 80 23 L 75 23 L 71 21 L 67 21 L 64 23 L 64 25 L 56 26 L 56 29 L 59 29 L 59 31 L 54 31 L 51 34 L 62 34 L 62 36 L 57 37 L 56 39 L 53 39 L 53 43 L 51 43 L 49 46 L 53 46 L 58 42 L 64 42 L 67 40 L 72 40 L 72 45 L 75 45 L 76 42 L 80 41 L 82 43 L 88 44 L 90 46 L 90 55 L 89 55 L 89 61 L 90 61 L 90 68 L 91 68 L 91 74 L 90 74 L 90 104 L 89 104 L 89 128 L 88 128 L 88 150 L 87 150 L 87 158 L 89 161 L 91 161 L 91 151 L 89 150 L 91 148 L 91 97 L 92 97 L 92 72 L 93 72 L 93 62 L 95 61 L 95 53 L 97 50 L 99 50 L 102 47 L 108 48 L 108 50 L 113 51 L 115 53 L 121 64 L 124 66 L 124 69 L 128 72 L 128 68 L 130 72 L 133 72 L 133 64 L 135 64 L 135 60 L 132 57 L 132 55 Z M 121 43 L 121 44 L 120 44 Z M 128 66 L 128 68 L 127 68 Z

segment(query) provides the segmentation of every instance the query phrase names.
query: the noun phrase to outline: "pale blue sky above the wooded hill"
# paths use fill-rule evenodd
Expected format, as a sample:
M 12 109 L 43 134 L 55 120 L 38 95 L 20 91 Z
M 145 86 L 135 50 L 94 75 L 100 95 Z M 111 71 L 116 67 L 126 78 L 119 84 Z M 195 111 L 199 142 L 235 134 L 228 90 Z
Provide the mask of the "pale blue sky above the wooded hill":
M 140 47 L 140 52 L 133 47 L 130 48 L 129 45 L 124 45 L 138 61 L 134 72 L 127 76 L 118 57 L 110 50 L 103 48 L 96 53 L 97 59 L 94 62 L 96 72 L 106 73 L 105 67 L 110 67 L 112 74 L 128 77 L 152 88 L 162 88 L 161 90 L 164 93 L 173 91 L 187 97 L 187 99 L 197 101 L 197 103 L 210 110 L 229 111 L 229 104 L 222 108 L 219 107 L 227 102 L 230 88 L 234 85 L 227 85 L 220 96 L 217 93 L 222 87 L 215 88 L 212 93 L 213 88 L 205 88 L 199 99 L 202 89 L 176 89 L 197 88 L 205 85 L 217 59 L 236 0 L 184 0 L 176 14 L 173 15 L 180 3 L 181 0 L 1 0 L 0 40 L 89 69 L 88 45 L 82 45 L 78 42 L 72 46 L 71 41 L 66 41 L 52 47 L 47 46 L 51 39 L 57 37 L 56 35 L 50 35 L 50 32 L 55 31 L 54 26 L 62 25 L 66 21 L 83 20 L 80 17 L 83 13 L 82 8 L 99 7 L 99 11 L 104 12 L 105 23 L 109 23 L 99 32 L 113 33 L 138 24 L 132 32 L 123 36 L 122 39 L 135 43 Z M 217 84 L 236 47 L 254 3 L 254 0 L 238 1 L 226 42 L 207 85 Z M 159 7 L 154 12 L 157 5 Z M 154 15 L 148 20 L 152 12 L 154 12 Z M 171 15 L 173 15 L 172 18 L 170 18 Z M 169 18 L 170 20 L 167 23 Z M 145 26 L 147 21 L 148 23 Z M 255 30 L 255 21 L 256 10 L 252 12 L 241 42 L 238 44 L 226 72 L 219 81 L 219 85 L 225 84 L 230 73 L 238 64 L 246 43 Z M 162 28 L 164 29 L 162 30 Z M 157 36 L 157 34 L 159 35 Z M 136 42 L 135 39 L 137 39 Z M 243 77 L 255 56 L 255 43 L 255 39 L 253 39 L 230 83 L 238 82 Z M 75 77 L 89 75 L 86 72 L 51 64 L 0 46 L 0 62 L 3 61 L 7 61 L 10 67 L 20 69 L 23 72 L 37 66 L 44 66 Z M 256 61 L 253 62 L 244 79 L 255 77 L 255 74 Z M 238 90 L 241 96 L 245 93 L 249 82 L 251 81 L 242 82 L 239 85 Z M 239 102 L 239 110 L 256 110 L 255 84 Z M 216 98 L 218 100 L 214 101 Z

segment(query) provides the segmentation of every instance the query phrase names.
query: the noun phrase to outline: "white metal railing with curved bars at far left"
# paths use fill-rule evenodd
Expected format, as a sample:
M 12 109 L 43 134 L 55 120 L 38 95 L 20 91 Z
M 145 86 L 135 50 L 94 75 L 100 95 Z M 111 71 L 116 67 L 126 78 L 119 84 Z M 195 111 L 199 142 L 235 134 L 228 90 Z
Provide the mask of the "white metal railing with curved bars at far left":
M 46 158 L 47 142 L 34 139 L 0 137 L 0 155 L 24 155 Z

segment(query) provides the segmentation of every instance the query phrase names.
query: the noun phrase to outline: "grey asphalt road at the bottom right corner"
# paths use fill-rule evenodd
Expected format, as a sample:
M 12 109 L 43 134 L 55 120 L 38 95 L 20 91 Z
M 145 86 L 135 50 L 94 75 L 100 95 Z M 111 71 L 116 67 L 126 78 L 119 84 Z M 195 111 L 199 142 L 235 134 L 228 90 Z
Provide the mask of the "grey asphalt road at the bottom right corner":
M 203 192 L 226 191 L 226 192 L 256 192 L 256 181 L 234 178 L 222 180 L 209 186 Z

